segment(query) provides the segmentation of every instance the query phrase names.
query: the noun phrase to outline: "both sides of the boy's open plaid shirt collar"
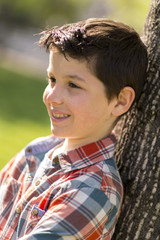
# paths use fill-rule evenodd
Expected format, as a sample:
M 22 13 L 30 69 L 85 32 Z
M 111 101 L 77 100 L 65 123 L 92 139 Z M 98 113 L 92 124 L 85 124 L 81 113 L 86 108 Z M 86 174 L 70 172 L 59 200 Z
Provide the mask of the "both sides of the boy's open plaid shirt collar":
M 25 156 L 45 155 L 48 151 L 56 147 L 63 141 L 62 138 L 53 136 L 38 138 L 32 141 L 25 148 Z M 116 145 L 116 138 L 114 134 L 103 138 L 97 142 L 89 143 L 77 149 L 68 151 L 65 154 L 59 154 L 61 168 L 83 168 L 94 163 L 107 160 L 113 157 Z

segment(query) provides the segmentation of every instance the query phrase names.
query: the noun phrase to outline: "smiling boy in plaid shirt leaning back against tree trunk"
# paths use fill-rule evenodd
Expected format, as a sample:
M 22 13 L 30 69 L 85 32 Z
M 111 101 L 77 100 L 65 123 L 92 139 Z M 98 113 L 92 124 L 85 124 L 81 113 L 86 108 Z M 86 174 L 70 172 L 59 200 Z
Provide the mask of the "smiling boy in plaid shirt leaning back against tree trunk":
M 42 33 L 52 136 L 1 172 L 0 239 L 109 240 L 120 214 L 117 119 L 142 91 L 146 47 L 130 27 L 88 19 Z

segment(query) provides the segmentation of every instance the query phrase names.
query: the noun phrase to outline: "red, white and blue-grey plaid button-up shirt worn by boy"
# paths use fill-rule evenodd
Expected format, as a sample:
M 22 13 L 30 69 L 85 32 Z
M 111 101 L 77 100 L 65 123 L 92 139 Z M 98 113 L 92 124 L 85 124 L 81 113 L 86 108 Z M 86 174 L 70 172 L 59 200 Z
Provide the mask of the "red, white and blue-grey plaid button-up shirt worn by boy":
M 114 136 L 51 161 L 59 143 L 38 139 L 1 171 L 0 239 L 111 239 L 123 195 Z

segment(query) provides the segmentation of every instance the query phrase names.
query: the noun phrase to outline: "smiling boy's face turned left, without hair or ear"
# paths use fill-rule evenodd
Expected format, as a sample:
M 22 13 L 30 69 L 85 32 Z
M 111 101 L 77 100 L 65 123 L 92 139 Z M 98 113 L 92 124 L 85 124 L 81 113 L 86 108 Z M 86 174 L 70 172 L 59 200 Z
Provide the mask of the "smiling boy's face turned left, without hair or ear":
M 110 133 L 115 100 L 108 102 L 104 84 L 85 60 L 66 60 L 58 50 L 51 51 L 48 77 L 43 99 L 55 136 L 83 145 Z

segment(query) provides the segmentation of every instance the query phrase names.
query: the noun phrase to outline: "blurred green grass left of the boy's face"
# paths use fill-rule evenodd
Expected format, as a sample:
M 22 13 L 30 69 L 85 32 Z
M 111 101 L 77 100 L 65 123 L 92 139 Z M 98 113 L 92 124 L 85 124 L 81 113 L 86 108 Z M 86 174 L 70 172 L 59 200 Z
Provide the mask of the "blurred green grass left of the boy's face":
M 46 82 L 0 67 L 0 169 L 36 137 L 50 134 Z

